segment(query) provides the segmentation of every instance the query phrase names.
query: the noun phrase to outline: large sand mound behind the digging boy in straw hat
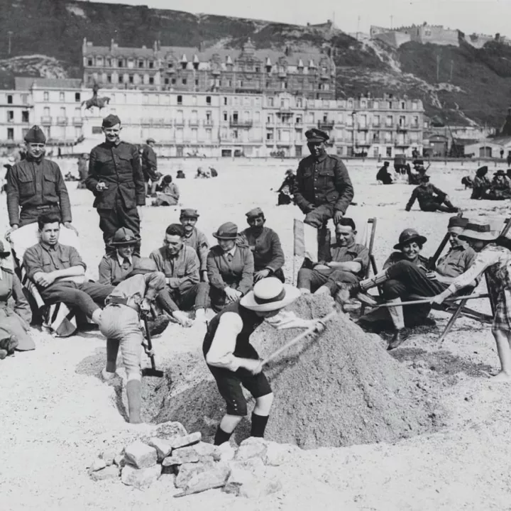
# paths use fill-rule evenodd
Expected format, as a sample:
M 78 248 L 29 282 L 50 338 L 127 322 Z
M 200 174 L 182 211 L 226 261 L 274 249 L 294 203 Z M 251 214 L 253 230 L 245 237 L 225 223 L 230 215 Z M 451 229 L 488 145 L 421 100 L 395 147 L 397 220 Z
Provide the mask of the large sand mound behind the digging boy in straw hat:
M 289 309 L 310 319 L 324 317 L 332 305 L 329 297 L 306 296 Z M 252 341 L 264 357 L 300 331 L 263 324 Z M 176 386 L 156 421 L 179 421 L 211 438 L 224 402 L 199 353 L 185 366 L 170 366 Z M 426 396 L 407 369 L 385 351 L 378 336 L 366 334 L 342 313 L 320 336 L 283 353 L 265 373 L 275 392 L 267 439 L 313 449 L 396 441 L 432 429 Z M 243 422 L 236 441 L 246 436 L 248 422 Z

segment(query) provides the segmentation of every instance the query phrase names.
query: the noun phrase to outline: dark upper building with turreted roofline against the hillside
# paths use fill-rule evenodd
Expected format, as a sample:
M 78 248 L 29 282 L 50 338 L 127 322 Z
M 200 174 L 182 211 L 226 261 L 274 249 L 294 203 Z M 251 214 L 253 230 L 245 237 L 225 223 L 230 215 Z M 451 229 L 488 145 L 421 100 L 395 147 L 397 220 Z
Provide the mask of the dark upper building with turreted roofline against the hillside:
M 250 39 L 242 50 L 161 46 L 152 48 L 82 46 L 84 84 L 105 89 L 169 92 L 275 94 L 290 92 L 310 99 L 334 99 L 336 70 L 329 55 L 287 47 L 257 50 Z

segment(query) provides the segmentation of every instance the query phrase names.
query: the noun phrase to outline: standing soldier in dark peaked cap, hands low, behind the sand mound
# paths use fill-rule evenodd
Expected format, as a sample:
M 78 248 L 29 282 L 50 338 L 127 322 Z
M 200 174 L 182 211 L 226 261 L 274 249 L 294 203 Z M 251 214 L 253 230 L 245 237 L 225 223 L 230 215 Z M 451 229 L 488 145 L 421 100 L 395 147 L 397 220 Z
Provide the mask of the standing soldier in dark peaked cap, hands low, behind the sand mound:
M 329 254 L 326 223 L 333 218 L 337 224 L 344 216 L 353 199 L 353 186 L 344 163 L 326 153 L 329 136 L 317 128 L 306 131 L 305 136 L 311 154 L 298 164 L 295 202 L 305 214 L 304 223 L 320 229 L 318 258 L 326 260 Z

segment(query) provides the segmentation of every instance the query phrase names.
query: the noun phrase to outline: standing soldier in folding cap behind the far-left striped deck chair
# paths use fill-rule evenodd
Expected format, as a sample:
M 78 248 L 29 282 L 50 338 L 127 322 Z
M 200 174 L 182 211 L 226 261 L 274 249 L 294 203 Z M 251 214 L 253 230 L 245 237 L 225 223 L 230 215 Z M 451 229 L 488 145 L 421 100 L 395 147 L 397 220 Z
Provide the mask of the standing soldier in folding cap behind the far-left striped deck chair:
M 71 205 L 59 166 L 45 159 L 46 137 L 39 126 L 32 126 L 25 136 L 26 159 L 11 167 L 7 176 L 7 210 L 11 230 L 34 224 L 38 216 L 60 216 L 68 229 Z

